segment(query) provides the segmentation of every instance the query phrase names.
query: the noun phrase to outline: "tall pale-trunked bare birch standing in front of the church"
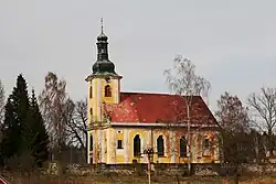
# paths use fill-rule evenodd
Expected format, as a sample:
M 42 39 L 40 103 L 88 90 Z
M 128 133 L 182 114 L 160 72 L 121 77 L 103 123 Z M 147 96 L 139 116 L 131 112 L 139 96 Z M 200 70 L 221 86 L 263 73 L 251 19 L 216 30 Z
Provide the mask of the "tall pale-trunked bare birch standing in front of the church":
M 178 55 L 174 58 L 173 67 L 164 71 L 167 84 L 171 93 L 179 95 L 185 100 L 188 123 L 188 170 L 191 174 L 191 111 L 194 96 L 208 97 L 211 84 L 202 76 L 195 74 L 194 64 L 187 57 Z

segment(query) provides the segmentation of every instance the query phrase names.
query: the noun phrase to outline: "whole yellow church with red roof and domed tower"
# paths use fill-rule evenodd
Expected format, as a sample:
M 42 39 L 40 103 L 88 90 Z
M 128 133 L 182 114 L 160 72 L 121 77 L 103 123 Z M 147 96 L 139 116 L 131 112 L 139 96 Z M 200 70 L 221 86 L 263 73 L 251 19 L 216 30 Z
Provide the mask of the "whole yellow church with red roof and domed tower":
M 187 141 L 185 98 L 121 91 L 123 76 L 109 61 L 107 40 L 102 26 L 96 43 L 97 61 L 86 78 L 87 162 L 147 163 L 145 150 L 151 148 L 153 163 L 187 163 L 188 158 L 191 163 L 219 163 L 217 122 L 204 100 L 192 97 L 190 141 Z

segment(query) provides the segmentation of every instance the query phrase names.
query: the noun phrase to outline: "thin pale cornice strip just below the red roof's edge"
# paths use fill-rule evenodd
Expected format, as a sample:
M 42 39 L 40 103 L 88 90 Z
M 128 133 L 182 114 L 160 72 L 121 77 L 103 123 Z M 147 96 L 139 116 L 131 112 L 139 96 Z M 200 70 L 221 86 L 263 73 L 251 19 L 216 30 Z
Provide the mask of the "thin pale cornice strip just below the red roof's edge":
M 156 123 L 156 122 L 110 122 L 112 126 L 127 126 L 127 127 L 187 127 L 185 123 Z M 190 125 L 191 127 L 216 128 L 217 125 Z

